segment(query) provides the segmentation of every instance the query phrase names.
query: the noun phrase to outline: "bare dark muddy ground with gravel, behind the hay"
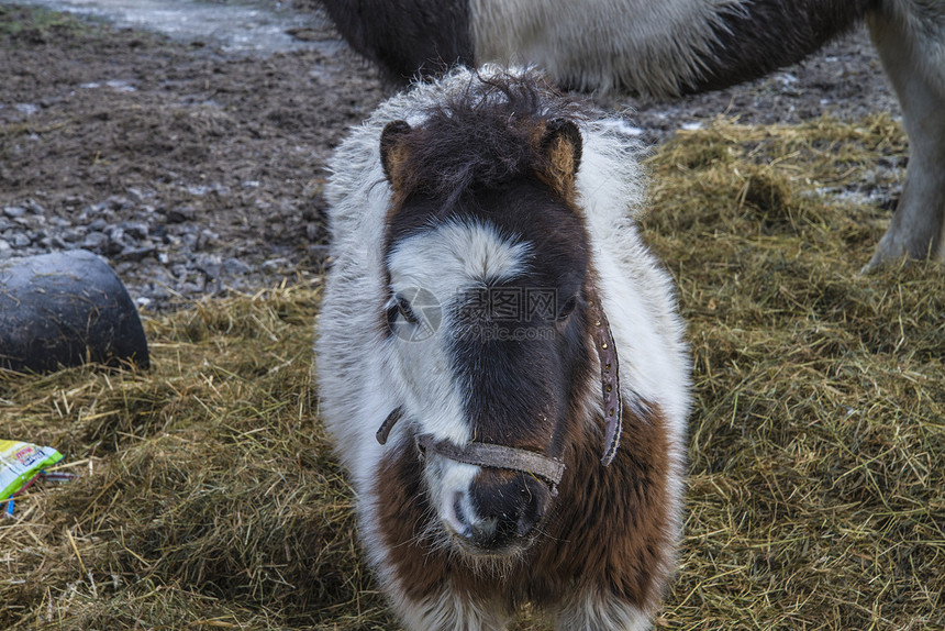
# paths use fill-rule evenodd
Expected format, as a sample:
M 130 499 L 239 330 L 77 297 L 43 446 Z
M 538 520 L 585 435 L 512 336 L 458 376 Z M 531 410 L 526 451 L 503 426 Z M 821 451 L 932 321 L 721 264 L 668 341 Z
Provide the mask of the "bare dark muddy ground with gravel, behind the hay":
M 314 0 L 293 10 L 311 16 L 300 40 L 337 40 Z M 146 309 L 311 278 L 325 254 L 326 160 L 393 89 L 344 46 L 326 49 L 226 53 L 0 4 L 0 258 L 91 250 Z M 863 31 L 747 86 L 599 101 L 630 108 L 649 144 L 721 114 L 898 114 Z M 891 208 L 898 191 L 883 195 Z

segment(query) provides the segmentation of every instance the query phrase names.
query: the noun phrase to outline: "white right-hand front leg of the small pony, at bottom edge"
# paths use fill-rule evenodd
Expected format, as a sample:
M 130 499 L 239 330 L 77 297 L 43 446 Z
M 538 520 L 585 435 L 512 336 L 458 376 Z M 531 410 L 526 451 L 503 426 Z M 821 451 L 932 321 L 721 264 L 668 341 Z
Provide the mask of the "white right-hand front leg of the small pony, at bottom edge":
M 557 631 L 645 631 L 653 626 L 649 609 L 592 590 L 569 598 L 555 617 Z

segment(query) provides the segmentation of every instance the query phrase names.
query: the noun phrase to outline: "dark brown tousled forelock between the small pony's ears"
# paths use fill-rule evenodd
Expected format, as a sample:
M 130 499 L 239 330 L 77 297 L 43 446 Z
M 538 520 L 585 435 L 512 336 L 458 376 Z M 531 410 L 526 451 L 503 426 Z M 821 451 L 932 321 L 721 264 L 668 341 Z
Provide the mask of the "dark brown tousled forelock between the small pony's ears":
M 585 108 L 541 74 L 483 78 L 432 107 L 405 134 L 399 191 L 449 203 L 474 187 L 498 188 L 548 168 L 542 137 L 548 122 L 585 118 Z

